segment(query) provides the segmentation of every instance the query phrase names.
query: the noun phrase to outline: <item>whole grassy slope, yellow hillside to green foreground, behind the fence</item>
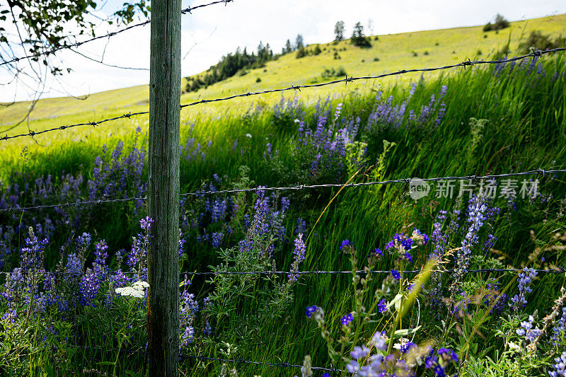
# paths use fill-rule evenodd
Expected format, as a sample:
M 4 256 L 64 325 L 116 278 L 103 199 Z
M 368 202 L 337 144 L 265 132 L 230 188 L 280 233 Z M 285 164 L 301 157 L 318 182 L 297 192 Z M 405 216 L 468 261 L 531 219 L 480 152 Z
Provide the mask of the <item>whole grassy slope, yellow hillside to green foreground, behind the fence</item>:
M 320 45 L 326 51 L 318 57 L 295 59 L 294 54 L 280 57 L 267 64 L 266 72 L 259 69 L 246 76 L 235 76 L 198 93 L 186 93 L 182 101 L 188 103 L 197 98 L 320 81 L 325 67 L 344 66 L 348 76 L 357 76 L 461 62 L 477 57 L 478 50 L 482 52 L 481 57 L 487 58 L 509 39 L 511 47 L 515 48 L 521 36 L 531 30 L 556 36 L 564 33 L 565 28 L 566 15 L 560 15 L 512 23 L 511 28 L 500 30 L 498 34 L 483 33 L 478 26 L 380 35 L 379 40 L 372 40 L 374 47 L 370 50 L 359 50 L 347 42 Z M 339 52 L 342 59 L 333 59 L 333 50 L 329 50 L 333 48 L 346 48 Z M 417 57 L 413 57 L 413 50 Z M 284 106 L 279 103 L 280 95 L 195 106 L 183 112 L 181 192 L 212 190 L 211 185 L 215 190 L 222 190 L 258 185 L 344 183 L 350 179 L 363 183 L 539 168 L 566 169 L 565 55 L 563 52 L 545 54 L 538 62 L 529 59 L 522 64 L 475 66 L 425 74 L 423 79 L 420 75 L 405 75 L 365 85 L 349 83 L 348 86 L 303 90 L 295 93 L 301 96 L 296 102 L 294 93 L 289 93 Z M 374 62 L 374 57 L 379 57 L 379 62 Z M 258 76 L 261 82 L 255 83 Z M 98 93 L 82 102 L 69 98 L 42 100 L 30 124 L 37 131 L 52 125 L 146 110 L 146 95 L 145 88 L 137 87 Z M 340 103 L 342 111 L 337 113 Z M 5 127 L 21 117 L 27 105 L 18 103 L 0 110 Z M 55 118 L 55 115 L 61 116 Z M 133 132 L 138 126 L 141 131 Z M 11 133 L 25 132 L 25 129 L 26 126 L 21 126 Z M 317 129 L 320 132 L 317 133 Z M 351 138 L 340 139 L 345 129 Z M 113 122 L 94 129 L 81 127 L 48 133 L 38 137 L 37 143 L 30 139 L 0 141 L 3 148 L 0 178 L 4 180 L 0 185 L 3 200 L 0 206 L 9 204 L 10 195 L 13 202 L 21 206 L 87 199 L 93 190 L 91 185 L 98 190 L 95 197 L 140 195 L 139 187 L 147 175 L 146 131 L 147 118 L 139 117 L 131 122 Z M 328 143 L 306 143 L 309 132 L 313 139 L 316 139 L 313 135 L 318 134 Z M 115 146 L 122 145 L 120 141 L 123 141 L 122 154 L 115 152 Z M 303 141 L 305 144 L 301 144 Z M 108 149 L 103 149 L 102 144 L 108 144 Z M 20 156 L 26 145 L 28 151 Z M 340 146 L 345 148 L 343 154 L 338 152 Z M 96 159 L 97 156 L 100 159 Z M 38 184 L 37 179 L 41 177 L 41 182 L 45 182 L 48 174 L 53 175 L 54 190 L 44 195 L 42 183 Z M 541 172 L 526 178 L 540 181 L 538 195 L 531 198 L 518 195 L 514 199 L 496 197 L 487 202 L 487 207 L 497 207 L 499 211 L 485 217 L 480 231 L 469 231 L 478 235 L 478 240 L 470 247 L 470 268 L 565 266 L 566 175 Z M 8 183 L 11 194 L 6 190 Z M 14 183 L 18 184 L 17 190 Z M 28 188 L 23 188 L 26 184 Z M 107 187 L 122 184 L 120 190 L 105 191 Z M 497 184 L 504 186 L 504 181 L 498 180 Z M 477 185 L 475 188 L 478 192 Z M 1 196 L 4 194 L 5 202 Z M 290 200 L 287 211 L 282 210 L 283 196 Z M 195 331 L 193 341 L 183 347 L 183 354 L 290 364 L 302 364 L 308 354 L 313 366 L 330 367 L 332 364 L 345 369 L 350 351 L 356 345 L 371 345 L 365 341 L 376 330 L 391 334 L 395 330 L 416 327 L 418 331 L 412 339 L 415 344 L 423 348 L 427 344 L 447 347 L 458 353 L 458 363 L 451 365 L 450 361 L 443 361 L 446 376 L 456 372 L 458 376 L 548 376 L 555 364 L 553 359 L 566 351 L 564 330 L 560 330 L 558 324 L 562 311 L 548 321 L 548 329 L 533 352 L 527 350 L 529 342 L 516 330 L 520 330 L 521 321 L 529 320 L 529 315 L 533 315 L 538 328 L 544 326 L 543 318 L 552 313 L 555 300 L 561 294 L 560 288 L 565 285 L 563 273 L 539 273 L 530 283 L 533 291 L 526 294 L 528 303 L 524 308 L 514 308 L 505 301 L 500 311 L 492 309 L 499 298 L 503 301 L 503 294 L 507 294 L 508 302 L 512 302 L 515 294 L 520 294 L 514 272 L 483 272 L 462 278 L 447 272 L 430 279 L 415 279 L 424 282 L 421 291 L 416 289 L 417 301 L 412 301 L 408 284 L 396 285 L 393 274 L 389 273 L 391 269 L 420 269 L 430 255 L 437 252 L 437 245 L 444 245 L 446 249 L 437 267 L 459 268 L 461 260 L 457 255 L 464 247 L 463 240 L 471 239 L 466 233 L 473 221 L 466 220 L 470 216 L 468 198 L 456 196 L 429 195 L 413 200 L 403 183 L 344 187 L 343 190 L 285 191 L 268 201 L 269 216 L 279 219 L 279 209 L 285 216 L 277 220 L 279 223 L 271 221 L 265 233 L 253 231 L 254 220 L 262 221 L 260 194 L 190 197 L 181 207 L 185 253 L 180 268 L 192 279 L 188 291 L 195 295 L 200 311 L 191 323 Z M 216 198 L 226 202 L 214 202 Z M 222 205 L 229 209 L 224 210 L 220 220 L 215 219 L 214 213 L 220 211 L 218 208 Z M 441 210 L 448 212 L 444 221 L 439 220 Z M 139 233 L 139 219 L 144 216 L 145 205 L 137 207 L 134 202 L 70 207 L 62 212 L 52 209 L 1 212 L 0 232 L 7 236 L 0 241 L 0 257 L 4 258 L 5 269 L 16 267 L 20 263 L 19 250 L 24 245 L 27 227 L 35 226 L 35 231 L 40 233 L 38 224 L 45 229 L 49 225 L 46 219 L 49 219 L 54 231 L 46 245 L 37 246 L 42 250 L 46 269 L 69 269 L 71 253 L 80 254 L 80 247 L 76 246 L 79 234 L 88 232 L 93 243 L 100 239 L 107 241 L 108 267 L 112 273 L 117 268 L 129 271 L 131 266 L 127 267 L 120 258 L 126 257 L 130 250 L 143 249 L 140 243 L 132 245 L 132 236 Z M 300 276 L 296 283 L 291 283 L 285 275 L 204 278 L 191 274 L 210 269 L 289 271 L 298 237 L 296 231 L 301 228 L 300 219 L 305 221 L 303 239 L 306 240 L 306 258 L 300 264 L 301 271 L 350 271 L 352 260 L 354 269 L 363 269 L 368 255 L 376 255 L 375 249 L 380 248 L 383 257 L 373 267 L 385 274 L 370 275 L 368 290 L 358 301 L 352 288 L 355 274 L 310 274 Z M 445 242 L 433 237 L 438 222 L 447 237 Z M 431 242 L 410 249 L 411 263 L 400 261 L 391 250 L 386 251 L 386 243 L 395 233 L 410 234 L 413 228 L 431 236 Z M 277 233 L 281 229 L 282 233 Z M 218 233 L 224 236 L 220 246 L 213 244 L 214 234 Z M 493 238 L 494 243 L 485 246 Z M 239 243 L 250 239 L 253 243 Z M 345 240 L 354 248 L 344 246 Z M 270 249 L 270 245 L 274 247 Z M 8 249 L 11 253 L 6 253 Z M 118 250 L 122 250 L 120 257 Z M 85 248 L 83 253 L 86 264 L 83 261 L 82 269 L 91 265 L 94 268 L 94 248 Z M 404 277 L 412 279 L 415 275 Z M 452 290 L 451 284 L 456 279 L 461 281 L 457 289 Z M 4 283 L 0 293 L 8 294 L 6 281 L 0 279 L 0 282 Z M 70 282 L 58 283 L 62 292 L 73 287 Z M 41 289 L 47 291 L 45 281 L 41 284 Z M 380 291 L 382 286 L 392 290 L 384 293 Z M 395 301 L 397 290 L 403 293 L 403 300 Z M 120 296 L 108 298 L 100 289 L 92 299 L 96 305 L 76 303 L 65 312 L 73 317 L 62 315 L 64 310 L 53 305 L 46 311 L 49 315 L 34 315 L 30 309 L 33 303 L 30 306 L 24 299 L 25 292 L 23 289 L 21 301 L 16 303 L 8 303 L 0 296 L 0 318 L 3 318 L 0 320 L 0 374 L 144 375 L 143 357 L 117 350 L 143 350 L 145 347 L 146 311 L 141 301 Z M 203 311 L 203 300 L 209 295 L 213 304 Z M 79 296 L 84 299 L 86 294 L 81 291 Z M 382 297 L 389 304 L 385 314 L 374 311 L 375 316 L 368 316 L 367 322 L 362 320 L 366 311 L 362 306 L 366 306 L 368 312 L 374 310 Z M 107 299 L 112 305 L 108 306 Z M 341 323 L 344 316 L 356 312 L 354 325 L 349 327 L 354 332 L 335 347 L 345 359 L 330 359 L 327 342 L 315 320 L 305 315 L 306 308 L 313 305 L 323 308 L 328 337 L 333 341 L 344 335 L 346 327 Z M 15 308 L 19 315 L 15 325 L 9 323 L 10 317 L 4 318 L 10 308 Z M 205 333 L 207 323 L 212 326 L 209 335 Z M 559 330 L 552 340 L 550 335 L 554 334 L 554 328 Z M 412 335 L 407 332 L 405 336 Z M 86 348 L 74 347 L 77 343 Z M 388 343 L 393 346 L 393 342 Z M 371 345 L 371 352 L 375 352 L 375 348 Z M 391 347 L 389 351 L 400 356 Z M 360 364 L 366 361 L 363 357 L 359 359 Z M 297 368 L 268 365 L 232 363 L 227 367 L 235 367 L 239 376 L 300 374 Z M 432 370 L 424 371 L 424 366 L 415 368 L 422 373 L 419 376 L 436 375 Z M 222 370 L 221 361 L 186 359 L 180 363 L 183 376 L 219 376 Z M 322 371 L 316 371 L 314 376 L 322 376 Z

